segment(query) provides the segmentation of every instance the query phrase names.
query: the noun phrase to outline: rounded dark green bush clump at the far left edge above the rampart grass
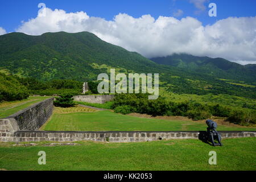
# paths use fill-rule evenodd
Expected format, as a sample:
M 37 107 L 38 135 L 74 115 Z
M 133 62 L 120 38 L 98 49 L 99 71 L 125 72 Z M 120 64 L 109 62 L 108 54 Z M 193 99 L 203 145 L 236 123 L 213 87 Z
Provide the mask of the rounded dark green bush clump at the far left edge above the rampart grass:
M 0 73 L 0 102 L 22 100 L 28 96 L 27 88 L 14 76 Z

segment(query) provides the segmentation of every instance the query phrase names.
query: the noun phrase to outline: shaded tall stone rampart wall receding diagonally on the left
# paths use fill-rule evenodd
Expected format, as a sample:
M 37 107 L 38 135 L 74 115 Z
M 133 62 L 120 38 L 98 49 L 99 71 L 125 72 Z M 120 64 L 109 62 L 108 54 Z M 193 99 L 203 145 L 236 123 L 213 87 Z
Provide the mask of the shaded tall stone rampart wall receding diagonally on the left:
M 6 119 L 13 118 L 19 126 L 19 130 L 38 130 L 52 115 L 53 98 L 49 98 L 24 110 L 10 115 Z

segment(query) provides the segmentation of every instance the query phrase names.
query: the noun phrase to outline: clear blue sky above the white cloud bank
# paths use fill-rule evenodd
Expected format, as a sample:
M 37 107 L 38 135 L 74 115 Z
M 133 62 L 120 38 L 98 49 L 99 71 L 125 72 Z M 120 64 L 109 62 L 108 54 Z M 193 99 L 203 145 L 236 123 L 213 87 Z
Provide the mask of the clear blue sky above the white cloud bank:
M 0 6 L 0 27 L 7 32 L 13 32 L 21 24 L 22 20 L 27 21 L 35 18 L 38 14 L 38 4 L 43 2 L 46 7 L 63 9 L 67 13 L 85 11 L 89 16 L 97 16 L 112 20 L 119 13 L 126 13 L 134 18 L 150 14 L 154 18 L 158 16 L 173 16 L 175 11 L 182 10 L 183 14 L 176 18 L 181 19 L 185 16 L 197 18 L 204 25 L 212 24 L 217 20 L 228 18 L 229 16 L 255 16 L 255 0 L 210 0 L 205 1 L 207 8 L 205 11 L 196 13 L 198 10 L 190 0 L 1 0 Z M 214 2 L 217 5 L 217 17 L 208 16 L 208 5 Z

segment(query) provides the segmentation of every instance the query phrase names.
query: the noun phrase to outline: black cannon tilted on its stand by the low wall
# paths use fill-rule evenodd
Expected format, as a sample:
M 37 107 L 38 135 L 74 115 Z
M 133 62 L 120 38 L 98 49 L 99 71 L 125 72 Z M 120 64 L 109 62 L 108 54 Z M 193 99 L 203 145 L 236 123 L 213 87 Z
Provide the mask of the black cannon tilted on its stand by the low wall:
M 213 146 L 222 146 L 221 134 L 219 134 L 218 131 L 216 131 L 217 123 L 210 119 L 207 119 L 206 123 L 208 126 L 207 135 L 208 135 L 209 142 L 211 142 Z M 217 140 L 217 143 L 214 142 L 214 140 Z

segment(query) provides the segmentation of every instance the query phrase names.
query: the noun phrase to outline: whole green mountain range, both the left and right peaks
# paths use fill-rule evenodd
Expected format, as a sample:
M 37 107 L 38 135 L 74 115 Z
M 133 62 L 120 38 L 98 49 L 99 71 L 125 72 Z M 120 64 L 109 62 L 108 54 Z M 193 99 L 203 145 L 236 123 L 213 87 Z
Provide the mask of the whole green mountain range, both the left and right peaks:
M 159 73 L 161 89 L 174 93 L 222 93 L 256 98 L 255 74 L 248 74 L 254 72 L 253 67 L 241 65 L 241 69 L 237 69 L 236 64 L 229 66 L 230 62 L 223 59 L 207 63 L 208 57 L 194 58 L 177 58 L 175 64 L 162 65 L 162 62 L 155 63 L 155 59 L 152 61 L 137 52 L 106 43 L 89 32 L 56 32 L 40 36 L 15 32 L 0 36 L 0 72 L 19 77 L 40 81 L 93 81 L 97 80 L 98 74 L 115 68 L 124 73 Z M 187 69 L 187 63 L 191 69 Z M 203 63 L 207 64 L 201 69 Z M 228 66 L 220 69 L 218 63 Z

